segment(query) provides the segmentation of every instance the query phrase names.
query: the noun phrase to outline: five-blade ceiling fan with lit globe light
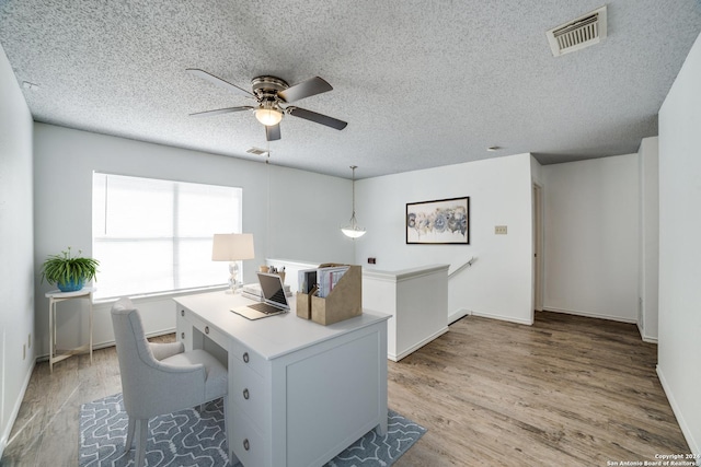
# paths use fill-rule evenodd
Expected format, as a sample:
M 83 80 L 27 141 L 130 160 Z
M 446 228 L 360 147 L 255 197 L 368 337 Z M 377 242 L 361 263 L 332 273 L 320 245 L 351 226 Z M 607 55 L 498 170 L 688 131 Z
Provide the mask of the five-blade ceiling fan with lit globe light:
M 254 110 L 255 118 L 257 118 L 261 124 L 265 125 L 265 138 L 268 141 L 280 139 L 279 122 L 285 114 L 335 128 L 336 130 L 343 130 L 346 125 L 348 125 L 345 121 L 329 117 L 327 115 L 318 114 L 295 105 L 287 105 L 290 102 L 333 90 L 331 84 L 319 77 L 310 78 L 292 86 L 288 85 L 285 80 L 276 77 L 256 77 L 251 80 L 252 92 L 249 92 L 235 84 L 231 84 L 230 82 L 222 80 L 221 78 L 215 77 L 205 70 L 188 68 L 186 71 L 196 77 L 203 78 L 212 84 L 226 87 L 244 97 L 252 98 L 257 103 L 255 106 L 243 105 L 239 107 L 197 112 L 195 114 L 189 114 L 191 117 L 209 117 L 212 115 L 229 114 L 232 112 Z

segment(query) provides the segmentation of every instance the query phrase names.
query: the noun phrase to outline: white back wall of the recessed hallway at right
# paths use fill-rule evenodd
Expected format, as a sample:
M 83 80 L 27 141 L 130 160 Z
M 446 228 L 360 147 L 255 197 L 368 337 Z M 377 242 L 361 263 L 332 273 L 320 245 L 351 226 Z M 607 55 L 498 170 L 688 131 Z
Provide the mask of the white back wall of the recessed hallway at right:
M 636 154 L 545 165 L 543 307 L 635 323 Z

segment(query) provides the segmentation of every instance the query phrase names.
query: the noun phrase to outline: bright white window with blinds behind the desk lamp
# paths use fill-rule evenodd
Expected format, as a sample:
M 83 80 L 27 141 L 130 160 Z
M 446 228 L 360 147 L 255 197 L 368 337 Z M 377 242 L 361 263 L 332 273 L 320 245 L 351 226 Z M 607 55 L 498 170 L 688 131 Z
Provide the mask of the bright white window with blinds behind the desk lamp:
M 240 233 L 241 188 L 93 174 L 97 299 L 225 284 L 215 233 Z

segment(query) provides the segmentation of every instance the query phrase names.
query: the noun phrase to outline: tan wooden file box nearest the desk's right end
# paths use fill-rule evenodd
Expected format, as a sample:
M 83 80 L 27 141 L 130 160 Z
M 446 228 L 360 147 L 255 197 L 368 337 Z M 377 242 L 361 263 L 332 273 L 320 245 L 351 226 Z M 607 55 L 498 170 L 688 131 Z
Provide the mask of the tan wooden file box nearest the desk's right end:
M 297 303 L 299 305 L 299 302 Z M 350 266 L 326 297 L 311 297 L 311 319 L 324 326 L 361 314 L 363 270 L 360 266 Z

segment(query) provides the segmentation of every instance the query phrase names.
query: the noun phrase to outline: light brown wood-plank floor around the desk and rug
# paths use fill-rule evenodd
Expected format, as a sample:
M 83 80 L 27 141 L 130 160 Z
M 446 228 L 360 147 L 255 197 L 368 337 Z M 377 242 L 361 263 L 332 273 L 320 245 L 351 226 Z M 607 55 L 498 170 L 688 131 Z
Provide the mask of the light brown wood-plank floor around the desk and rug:
M 688 453 L 656 352 L 629 324 L 466 317 L 389 362 L 390 408 L 428 429 L 395 466 L 606 466 Z M 53 375 L 36 365 L 2 466 L 78 465 L 80 405 L 120 390 L 114 348 L 93 358 L 60 362 Z

